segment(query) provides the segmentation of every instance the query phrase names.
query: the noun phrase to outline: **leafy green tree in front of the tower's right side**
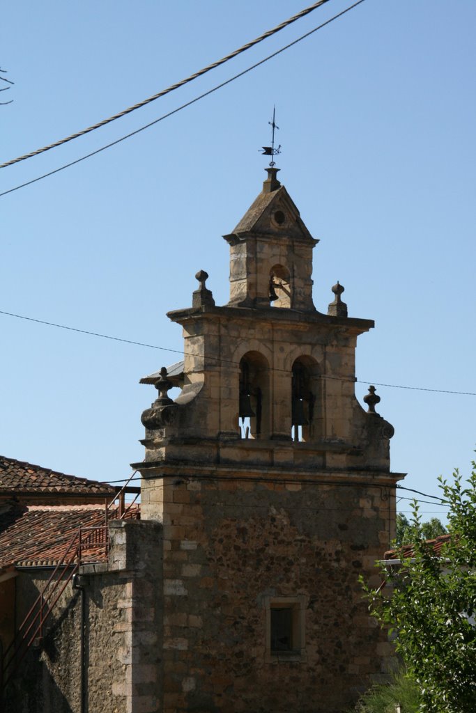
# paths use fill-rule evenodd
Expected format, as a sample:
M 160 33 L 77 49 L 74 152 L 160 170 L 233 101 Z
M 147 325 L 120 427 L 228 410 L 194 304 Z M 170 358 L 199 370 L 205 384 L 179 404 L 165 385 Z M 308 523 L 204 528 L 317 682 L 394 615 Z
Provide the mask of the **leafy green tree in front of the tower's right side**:
M 441 557 L 422 533 L 413 504 L 412 558 L 383 570 L 388 587 L 365 588 L 370 611 L 395 632 L 397 652 L 420 687 L 418 711 L 476 711 L 476 463 L 466 487 L 455 471 L 448 485 L 440 478 L 449 506 Z

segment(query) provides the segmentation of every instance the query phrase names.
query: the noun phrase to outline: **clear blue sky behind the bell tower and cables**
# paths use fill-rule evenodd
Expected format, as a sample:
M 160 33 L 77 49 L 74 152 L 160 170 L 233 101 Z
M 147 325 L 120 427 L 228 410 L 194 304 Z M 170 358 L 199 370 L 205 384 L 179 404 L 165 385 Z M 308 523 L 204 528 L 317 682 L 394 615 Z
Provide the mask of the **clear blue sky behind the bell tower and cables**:
M 350 4 L 350 3 L 349 3 Z M 0 170 L 0 193 L 90 153 L 293 41 L 322 9 L 130 116 Z M 85 128 L 188 76 L 305 7 L 295 0 L 10 3 L 1 160 Z M 260 191 L 276 106 L 280 179 L 310 232 L 314 301 L 337 280 L 360 337 L 360 381 L 476 392 L 475 43 L 472 0 L 366 0 L 211 96 L 79 165 L 0 198 L 0 309 L 182 348 L 170 309 L 206 270 L 228 299 L 230 232 Z M 141 376 L 173 352 L 0 314 L 0 449 L 116 480 L 143 457 Z M 356 384 L 362 399 L 368 386 Z M 476 396 L 378 386 L 392 468 L 437 493 L 467 473 Z M 409 493 L 403 493 L 407 496 Z M 402 511 L 408 509 L 401 501 Z M 422 505 L 427 517 L 436 506 Z

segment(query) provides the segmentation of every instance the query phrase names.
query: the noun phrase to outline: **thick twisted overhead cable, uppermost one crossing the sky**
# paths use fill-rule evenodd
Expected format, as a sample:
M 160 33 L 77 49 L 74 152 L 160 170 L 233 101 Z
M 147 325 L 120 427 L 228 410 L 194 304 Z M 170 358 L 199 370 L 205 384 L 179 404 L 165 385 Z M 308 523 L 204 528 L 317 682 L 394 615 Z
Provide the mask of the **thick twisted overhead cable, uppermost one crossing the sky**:
M 268 39 L 268 37 L 275 35 L 280 30 L 283 30 L 285 27 L 288 27 L 290 24 L 293 24 L 293 22 L 300 20 L 305 15 L 310 14 L 310 12 L 313 12 L 313 10 L 317 9 L 318 7 L 320 7 L 322 5 L 325 5 L 329 1 L 330 0 L 318 0 L 318 2 L 315 2 L 312 5 L 310 5 L 309 7 L 305 8 L 304 10 L 301 10 L 300 12 L 298 12 L 297 15 L 293 15 L 293 17 L 290 17 L 288 20 L 281 22 L 279 25 L 275 26 L 273 29 L 268 30 L 267 32 L 264 32 L 262 35 L 260 35 L 256 39 L 251 40 L 250 42 L 247 42 L 242 47 L 236 49 L 233 52 L 230 52 L 229 54 L 222 57 L 218 61 L 208 64 L 206 67 L 203 67 L 203 69 L 198 70 L 198 72 L 191 74 L 187 78 L 182 79 L 181 81 L 176 82 L 175 84 L 171 84 L 171 86 L 167 87 L 166 89 L 163 89 L 162 91 L 159 91 L 156 94 L 153 94 L 153 96 L 150 96 L 147 99 L 143 99 L 143 101 L 139 101 L 138 103 L 133 104 L 133 106 L 128 106 L 128 108 L 123 109 L 123 111 L 120 111 L 117 114 L 113 114 L 113 116 L 109 116 L 107 119 L 98 121 L 96 124 L 88 126 L 88 128 L 86 128 L 86 129 L 77 131 L 74 134 L 66 136 L 66 138 L 62 138 L 59 141 L 55 141 L 54 143 L 50 143 L 49 145 L 44 146 L 43 148 L 38 148 L 35 151 L 26 153 L 22 156 L 19 156 L 18 158 L 12 158 L 11 160 L 6 161 L 5 163 L 1 163 L 0 168 L 6 168 L 6 166 L 11 166 L 14 163 L 19 163 L 19 161 L 26 160 L 26 158 L 32 158 L 33 156 L 39 155 L 39 153 L 44 153 L 45 151 L 49 151 L 51 148 L 56 148 L 58 146 L 63 145 L 64 143 L 68 143 L 69 141 L 72 141 L 75 138 L 79 138 L 80 136 L 83 136 L 86 133 L 90 133 L 91 131 L 101 128 L 101 126 L 105 126 L 106 124 L 109 124 L 112 121 L 115 121 L 116 119 L 120 119 L 121 117 L 126 116 L 127 114 L 130 114 L 132 111 L 136 111 L 136 109 L 140 109 L 141 107 L 146 106 L 147 104 L 150 104 L 151 102 L 156 101 L 157 99 L 160 99 L 163 96 L 166 96 L 166 94 L 170 94 L 171 92 L 175 91 L 176 89 L 178 89 L 182 86 L 185 86 L 186 84 L 194 81 L 198 77 L 203 76 L 204 74 L 211 71 L 212 69 L 215 69 L 216 67 L 219 67 L 222 64 L 225 64 L 229 60 L 233 59 L 234 57 L 237 57 L 238 55 L 247 51 L 251 47 L 254 47 L 258 43 L 262 42 L 263 40 Z

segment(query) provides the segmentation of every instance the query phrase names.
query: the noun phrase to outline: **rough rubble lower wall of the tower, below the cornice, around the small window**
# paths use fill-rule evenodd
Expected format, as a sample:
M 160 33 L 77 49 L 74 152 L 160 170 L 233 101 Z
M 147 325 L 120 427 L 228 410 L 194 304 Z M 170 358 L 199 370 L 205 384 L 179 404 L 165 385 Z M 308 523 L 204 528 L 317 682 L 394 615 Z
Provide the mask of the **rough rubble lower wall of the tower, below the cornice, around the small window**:
M 338 713 L 390 655 L 358 575 L 389 541 L 388 488 L 166 478 L 143 482 L 163 517 L 165 713 Z M 273 597 L 303 602 L 299 660 L 267 652 Z

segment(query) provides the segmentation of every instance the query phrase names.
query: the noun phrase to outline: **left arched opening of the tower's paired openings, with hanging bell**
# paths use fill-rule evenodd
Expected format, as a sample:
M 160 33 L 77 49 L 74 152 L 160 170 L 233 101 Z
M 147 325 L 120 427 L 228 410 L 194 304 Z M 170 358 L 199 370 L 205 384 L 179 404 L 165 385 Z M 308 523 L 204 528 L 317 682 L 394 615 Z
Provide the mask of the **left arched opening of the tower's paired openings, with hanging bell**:
M 240 360 L 238 427 L 241 438 L 269 438 L 269 366 L 263 354 Z

